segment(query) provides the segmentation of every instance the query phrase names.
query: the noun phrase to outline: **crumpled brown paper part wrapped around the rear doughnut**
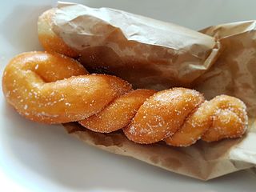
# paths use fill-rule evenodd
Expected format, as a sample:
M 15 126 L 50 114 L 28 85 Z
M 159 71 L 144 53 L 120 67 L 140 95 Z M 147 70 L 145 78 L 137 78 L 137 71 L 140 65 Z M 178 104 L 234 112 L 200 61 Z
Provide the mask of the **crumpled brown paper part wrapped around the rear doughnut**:
M 54 32 L 90 72 L 114 74 L 134 88 L 190 86 L 218 58 L 214 38 L 109 8 L 59 3 Z

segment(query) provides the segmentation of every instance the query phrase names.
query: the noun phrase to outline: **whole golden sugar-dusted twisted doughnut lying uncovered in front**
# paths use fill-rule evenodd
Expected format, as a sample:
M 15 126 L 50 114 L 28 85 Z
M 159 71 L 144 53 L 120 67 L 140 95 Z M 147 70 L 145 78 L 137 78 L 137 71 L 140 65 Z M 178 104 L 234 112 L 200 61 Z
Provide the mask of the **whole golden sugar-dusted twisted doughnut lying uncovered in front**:
M 102 133 L 122 129 L 131 141 L 144 144 L 163 140 L 190 146 L 199 138 L 238 138 L 247 125 L 246 106 L 238 98 L 205 101 L 185 88 L 132 90 L 121 78 L 88 74 L 61 54 L 19 54 L 6 66 L 2 88 L 7 102 L 32 121 L 78 121 Z

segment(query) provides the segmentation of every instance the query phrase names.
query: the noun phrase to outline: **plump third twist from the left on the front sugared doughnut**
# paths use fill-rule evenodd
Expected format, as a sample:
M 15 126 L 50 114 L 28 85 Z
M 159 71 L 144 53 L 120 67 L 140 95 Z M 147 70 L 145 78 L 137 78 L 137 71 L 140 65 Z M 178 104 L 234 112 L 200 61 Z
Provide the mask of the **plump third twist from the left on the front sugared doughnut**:
M 124 133 L 138 143 L 161 141 L 173 135 L 203 101 L 202 94 L 195 90 L 174 88 L 159 91 L 144 102 L 130 125 L 124 128 Z

